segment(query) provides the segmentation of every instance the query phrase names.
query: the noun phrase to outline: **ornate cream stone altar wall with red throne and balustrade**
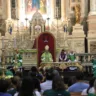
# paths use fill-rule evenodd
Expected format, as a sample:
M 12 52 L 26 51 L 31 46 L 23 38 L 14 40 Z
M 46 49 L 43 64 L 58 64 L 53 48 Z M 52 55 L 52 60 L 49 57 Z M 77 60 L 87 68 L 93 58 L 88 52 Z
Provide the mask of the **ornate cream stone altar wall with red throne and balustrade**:
M 95 31 L 95 0 L 0 0 L 1 65 L 9 66 L 19 52 L 26 70 L 40 67 L 41 54 L 48 45 L 54 66 L 66 63 L 59 63 L 62 49 L 73 51 L 86 73 L 91 74 Z

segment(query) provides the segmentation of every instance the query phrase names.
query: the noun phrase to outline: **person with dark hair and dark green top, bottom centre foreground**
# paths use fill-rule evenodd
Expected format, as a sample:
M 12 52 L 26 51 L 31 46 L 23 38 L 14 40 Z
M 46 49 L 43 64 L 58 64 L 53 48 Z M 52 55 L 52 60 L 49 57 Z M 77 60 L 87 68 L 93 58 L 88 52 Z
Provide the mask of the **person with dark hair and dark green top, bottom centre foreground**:
M 70 93 L 65 90 L 64 82 L 60 76 L 55 76 L 52 82 L 52 89 L 46 90 L 44 96 L 70 96 Z

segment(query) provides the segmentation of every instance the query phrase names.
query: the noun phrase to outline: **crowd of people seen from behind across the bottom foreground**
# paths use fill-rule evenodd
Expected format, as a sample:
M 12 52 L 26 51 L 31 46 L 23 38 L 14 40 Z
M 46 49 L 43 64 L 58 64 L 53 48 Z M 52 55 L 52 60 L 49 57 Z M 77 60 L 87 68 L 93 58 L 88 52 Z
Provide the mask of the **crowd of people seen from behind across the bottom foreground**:
M 65 80 L 53 68 L 43 70 L 33 66 L 28 76 L 16 72 L 12 78 L 0 79 L 0 96 L 96 96 L 96 78 L 87 82 L 83 73 L 79 73 Z

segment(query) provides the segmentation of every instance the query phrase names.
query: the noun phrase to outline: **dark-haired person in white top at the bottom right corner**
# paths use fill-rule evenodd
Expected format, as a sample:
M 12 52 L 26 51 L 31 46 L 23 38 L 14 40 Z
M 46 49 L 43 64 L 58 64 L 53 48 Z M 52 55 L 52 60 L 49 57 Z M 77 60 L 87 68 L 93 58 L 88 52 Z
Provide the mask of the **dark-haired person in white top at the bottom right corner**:
M 87 96 L 89 93 L 95 93 L 95 89 L 94 89 L 94 81 L 95 81 L 95 79 L 96 79 L 96 77 L 93 77 L 89 81 L 89 87 L 82 91 L 82 93 L 81 93 L 82 96 Z

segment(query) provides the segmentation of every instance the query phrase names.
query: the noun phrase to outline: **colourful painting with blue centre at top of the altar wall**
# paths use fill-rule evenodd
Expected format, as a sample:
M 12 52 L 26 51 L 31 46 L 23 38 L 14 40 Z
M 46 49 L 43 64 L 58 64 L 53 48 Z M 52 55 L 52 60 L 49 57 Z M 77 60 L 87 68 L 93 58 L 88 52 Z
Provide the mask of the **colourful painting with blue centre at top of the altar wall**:
M 25 0 L 25 12 L 31 14 L 38 10 L 42 14 L 46 14 L 46 0 Z

